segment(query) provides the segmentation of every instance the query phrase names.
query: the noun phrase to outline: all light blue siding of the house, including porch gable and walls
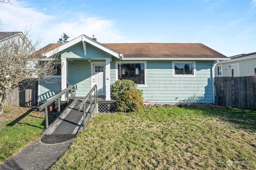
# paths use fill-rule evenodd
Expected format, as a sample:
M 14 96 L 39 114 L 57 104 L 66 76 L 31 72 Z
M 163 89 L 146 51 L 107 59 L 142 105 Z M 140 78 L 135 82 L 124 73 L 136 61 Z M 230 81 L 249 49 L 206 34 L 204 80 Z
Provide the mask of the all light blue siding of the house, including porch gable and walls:
M 69 84 L 77 85 L 74 92 L 76 97 L 84 97 L 91 89 L 91 63 L 92 61 L 105 61 L 104 58 L 111 56 L 87 44 L 86 56 L 82 42 L 62 51 L 62 58 L 67 58 L 67 81 Z M 97 58 L 98 60 L 93 60 Z M 99 59 L 100 58 L 100 59 Z M 110 84 L 116 81 L 116 59 L 111 57 L 110 62 Z M 122 62 L 122 61 L 121 61 Z M 173 77 L 172 61 L 147 61 L 146 87 L 139 87 L 144 92 L 144 101 L 152 103 L 178 103 L 182 100 L 198 103 L 213 103 L 212 94 L 212 64 L 213 61 L 195 61 L 195 77 Z M 61 89 L 58 84 L 61 78 L 56 78 L 54 83 L 40 82 L 39 101 L 58 94 Z

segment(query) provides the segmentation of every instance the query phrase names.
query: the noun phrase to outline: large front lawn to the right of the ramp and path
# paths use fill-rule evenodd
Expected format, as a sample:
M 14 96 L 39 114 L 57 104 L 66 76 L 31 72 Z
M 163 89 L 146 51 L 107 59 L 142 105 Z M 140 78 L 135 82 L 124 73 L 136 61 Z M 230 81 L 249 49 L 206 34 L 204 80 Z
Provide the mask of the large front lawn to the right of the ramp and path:
M 256 111 L 152 107 L 96 116 L 51 169 L 256 169 L 255 155 Z

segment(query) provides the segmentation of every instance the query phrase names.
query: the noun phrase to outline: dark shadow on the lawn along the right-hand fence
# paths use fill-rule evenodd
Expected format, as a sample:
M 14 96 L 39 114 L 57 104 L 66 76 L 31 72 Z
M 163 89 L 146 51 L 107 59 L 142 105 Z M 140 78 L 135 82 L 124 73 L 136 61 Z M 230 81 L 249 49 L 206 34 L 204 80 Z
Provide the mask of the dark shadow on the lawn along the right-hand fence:
M 191 108 L 198 109 L 198 108 Z M 237 128 L 256 131 L 256 111 L 236 108 L 226 109 L 204 109 L 203 115 L 218 117 L 221 121 L 226 121 L 237 125 Z

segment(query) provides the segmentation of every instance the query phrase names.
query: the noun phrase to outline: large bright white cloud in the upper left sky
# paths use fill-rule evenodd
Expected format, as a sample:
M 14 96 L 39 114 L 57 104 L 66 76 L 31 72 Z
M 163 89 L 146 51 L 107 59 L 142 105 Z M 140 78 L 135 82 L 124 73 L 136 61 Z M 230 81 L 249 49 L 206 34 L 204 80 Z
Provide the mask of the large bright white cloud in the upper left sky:
M 42 12 L 38 12 L 33 8 L 27 8 L 26 3 L 1 4 L 0 16 L 4 23 L 4 31 L 24 31 L 26 27 L 30 28 L 33 41 L 42 39 L 41 46 L 44 47 L 49 43 L 57 43 L 62 33 L 66 33 L 70 39 L 74 39 L 79 35 L 87 35 L 92 37 L 96 35 L 100 43 L 120 43 L 132 42 L 127 37 L 122 36 L 116 27 L 115 21 L 103 20 L 96 17 L 85 16 L 84 14 L 50 16 L 44 14 L 46 8 Z

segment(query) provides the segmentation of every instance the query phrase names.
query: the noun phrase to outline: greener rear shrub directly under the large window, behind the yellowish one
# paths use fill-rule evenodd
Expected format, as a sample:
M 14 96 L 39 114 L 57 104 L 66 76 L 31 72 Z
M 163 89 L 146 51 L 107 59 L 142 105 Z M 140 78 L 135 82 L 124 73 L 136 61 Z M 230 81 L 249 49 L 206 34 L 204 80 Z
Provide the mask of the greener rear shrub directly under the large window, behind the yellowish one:
M 116 100 L 118 100 L 118 98 L 120 98 L 126 91 L 134 91 L 143 98 L 143 91 L 139 90 L 137 84 L 132 80 L 117 80 L 111 85 L 111 89 L 111 94 Z

